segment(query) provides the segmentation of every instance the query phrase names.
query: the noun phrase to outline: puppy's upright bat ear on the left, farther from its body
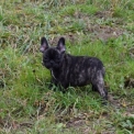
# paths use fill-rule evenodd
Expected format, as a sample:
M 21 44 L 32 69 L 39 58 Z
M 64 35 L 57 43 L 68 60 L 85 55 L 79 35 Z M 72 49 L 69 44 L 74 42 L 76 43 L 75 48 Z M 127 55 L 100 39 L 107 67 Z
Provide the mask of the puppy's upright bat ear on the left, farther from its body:
M 45 37 L 42 37 L 40 52 L 44 53 L 48 47 L 49 46 L 48 46 L 47 40 Z

